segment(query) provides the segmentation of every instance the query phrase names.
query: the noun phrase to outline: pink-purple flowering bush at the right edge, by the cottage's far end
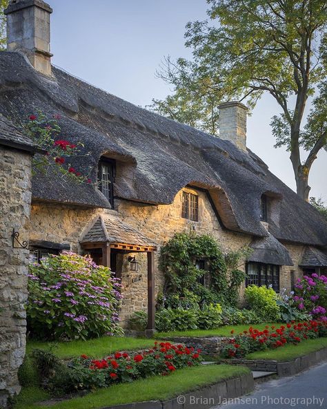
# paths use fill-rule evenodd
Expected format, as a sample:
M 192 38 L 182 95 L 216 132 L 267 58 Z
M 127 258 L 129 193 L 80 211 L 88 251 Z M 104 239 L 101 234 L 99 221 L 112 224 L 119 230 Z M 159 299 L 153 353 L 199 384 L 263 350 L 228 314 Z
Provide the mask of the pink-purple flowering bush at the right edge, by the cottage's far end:
M 307 312 L 314 318 L 327 321 L 327 277 L 318 274 L 304 276 L 295 285 L 294 300 L 301 312 Z

